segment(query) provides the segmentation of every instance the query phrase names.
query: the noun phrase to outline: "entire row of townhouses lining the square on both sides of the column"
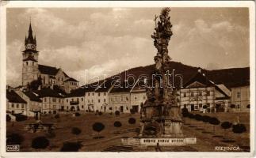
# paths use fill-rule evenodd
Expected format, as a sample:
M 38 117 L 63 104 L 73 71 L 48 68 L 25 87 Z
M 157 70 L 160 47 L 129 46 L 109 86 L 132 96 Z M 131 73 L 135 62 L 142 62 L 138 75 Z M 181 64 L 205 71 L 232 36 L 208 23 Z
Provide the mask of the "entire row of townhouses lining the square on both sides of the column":
M 116 87 L 112 79 L 107 79 L 97 86 L 76 88 L 65 96 L 52 88 L 33 92 L 8 88 L 6 107 L 10 113 L 28 116 L 59 111 L 139 112 L 147 100 L 146 90 L 139 86 L 139 80 L 132 87 L 126 87 L 125 82 Z M 232 110 L 231 104 L 235 105 L 235 111 L 249 111 L 250 83 L 227 88 L 209 80 L 198 70 L 183 88 L 178 89 L 178 101 L 181 108 L 186 107 L 189 111 L 227 112 Z

